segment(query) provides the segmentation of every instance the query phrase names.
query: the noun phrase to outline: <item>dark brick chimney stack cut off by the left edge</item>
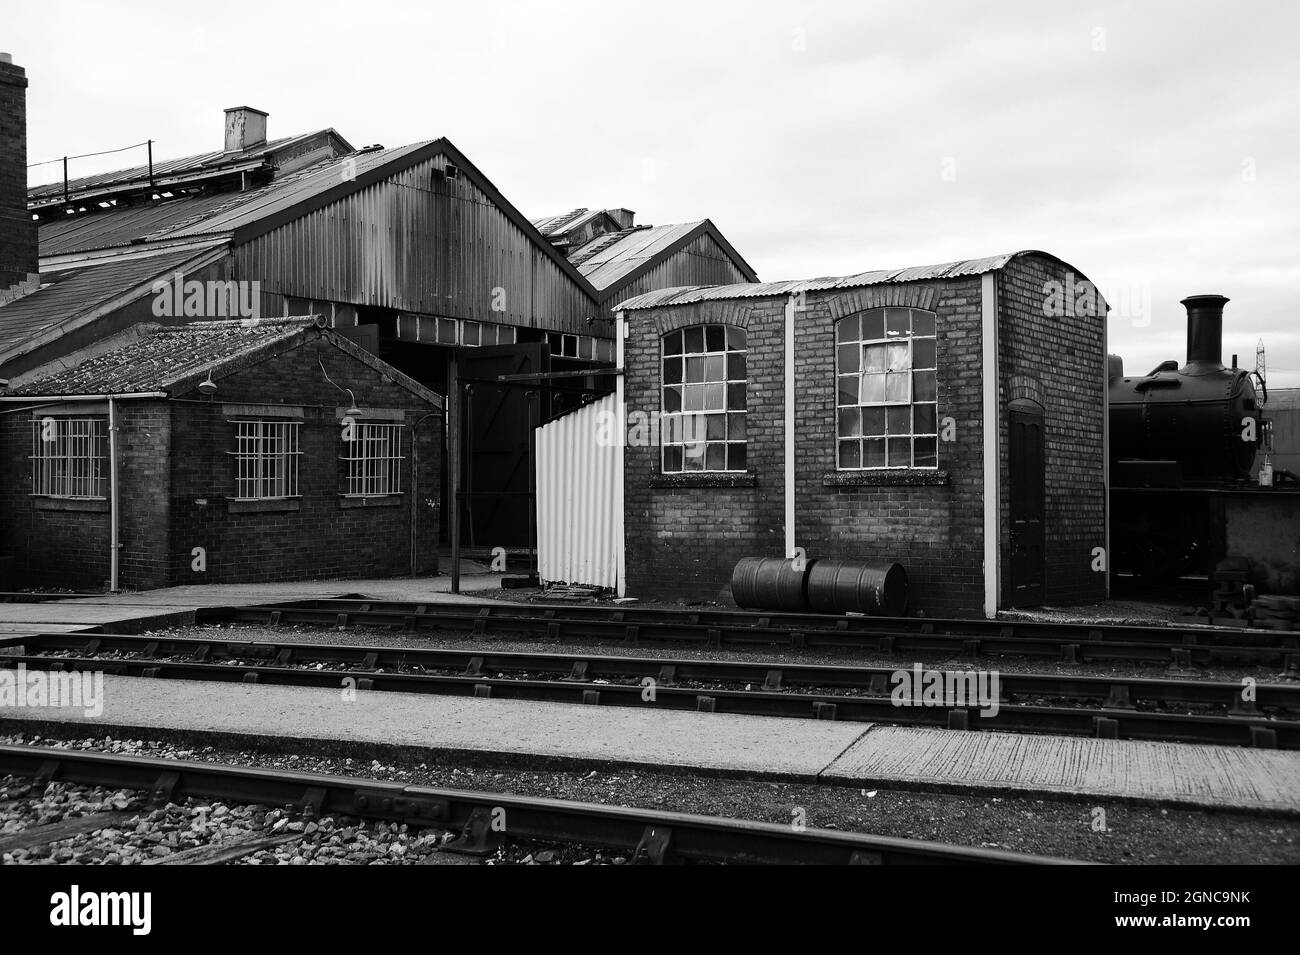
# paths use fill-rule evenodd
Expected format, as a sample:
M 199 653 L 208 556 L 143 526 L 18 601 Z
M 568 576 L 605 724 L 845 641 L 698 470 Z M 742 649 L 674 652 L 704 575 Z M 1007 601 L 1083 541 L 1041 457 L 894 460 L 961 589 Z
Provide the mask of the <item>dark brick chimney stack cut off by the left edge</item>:
M 40 269 L 27 212 L 27 71 L 0 53 L 0 291 Z

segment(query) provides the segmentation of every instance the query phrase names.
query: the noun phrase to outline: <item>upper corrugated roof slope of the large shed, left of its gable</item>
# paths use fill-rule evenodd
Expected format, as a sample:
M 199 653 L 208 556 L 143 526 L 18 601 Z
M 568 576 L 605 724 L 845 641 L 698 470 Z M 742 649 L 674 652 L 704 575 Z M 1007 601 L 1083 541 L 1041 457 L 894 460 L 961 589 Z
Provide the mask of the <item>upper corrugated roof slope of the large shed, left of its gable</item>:
M 40 255 L 57 256 L 161 239 L 221 235 L 287 209 L 348 177 L 400 159 L 426 143 L 326 160 L 247 192 L 217 192 L 160 204 L 68 216 L 40 226 Z

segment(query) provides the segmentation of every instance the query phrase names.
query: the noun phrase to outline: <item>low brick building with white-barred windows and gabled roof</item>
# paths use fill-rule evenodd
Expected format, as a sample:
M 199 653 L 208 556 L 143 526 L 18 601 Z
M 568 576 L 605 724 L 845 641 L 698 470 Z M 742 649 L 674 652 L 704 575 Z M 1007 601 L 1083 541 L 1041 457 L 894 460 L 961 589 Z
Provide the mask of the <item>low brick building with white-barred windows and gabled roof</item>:
M 320 318 L 130 339 L 0 398 L 6 586 L 437 569 L 438 395 Z

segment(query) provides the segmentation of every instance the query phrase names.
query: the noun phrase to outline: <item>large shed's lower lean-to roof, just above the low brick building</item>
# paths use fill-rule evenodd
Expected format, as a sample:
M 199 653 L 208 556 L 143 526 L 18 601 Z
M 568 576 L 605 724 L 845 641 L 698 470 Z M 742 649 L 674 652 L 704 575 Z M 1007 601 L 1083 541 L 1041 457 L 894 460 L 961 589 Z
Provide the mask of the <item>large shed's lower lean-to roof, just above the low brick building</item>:
M 203 253 L 191 249 L 42 274 L 36 291 L 0 305 L 0 361 L 43 344 L 60 329 L 77 327 L 152 294 L 157 278 L 185 272 L 191 260 L 202 259 Z

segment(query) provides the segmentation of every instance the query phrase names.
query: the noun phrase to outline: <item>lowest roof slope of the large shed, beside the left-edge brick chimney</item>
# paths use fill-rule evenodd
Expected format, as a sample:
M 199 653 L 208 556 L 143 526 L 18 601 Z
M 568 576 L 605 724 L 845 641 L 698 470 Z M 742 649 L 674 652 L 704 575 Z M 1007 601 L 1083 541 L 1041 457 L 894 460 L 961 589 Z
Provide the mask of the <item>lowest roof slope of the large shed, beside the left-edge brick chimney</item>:
M 0 352 L 150 285 L 195 255 L 190 249 L 44 274 L 40 288 L 0 307 Z

